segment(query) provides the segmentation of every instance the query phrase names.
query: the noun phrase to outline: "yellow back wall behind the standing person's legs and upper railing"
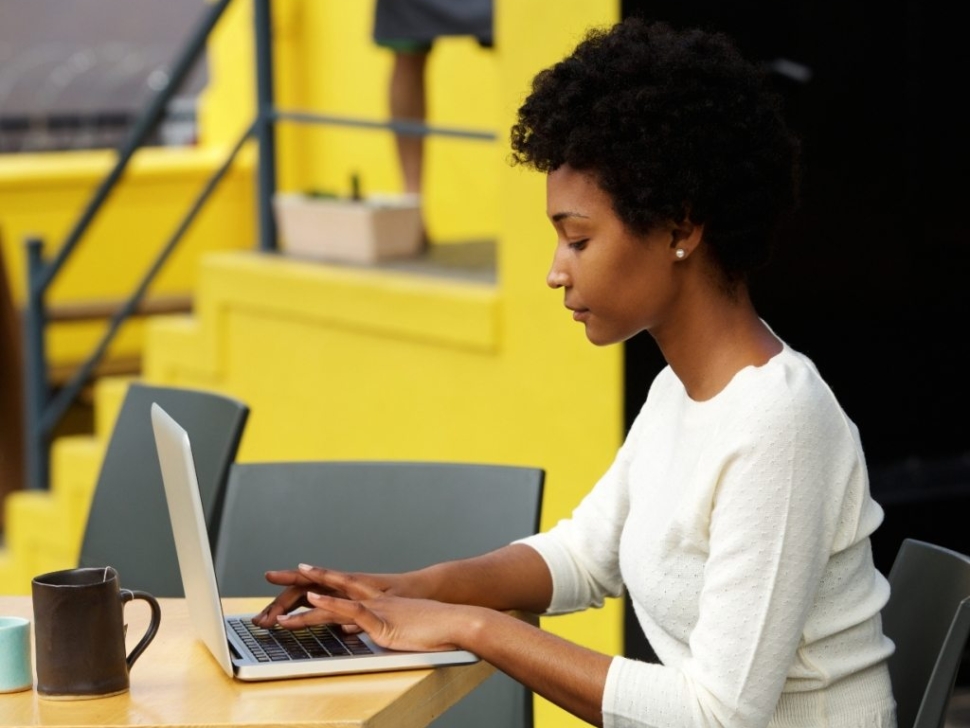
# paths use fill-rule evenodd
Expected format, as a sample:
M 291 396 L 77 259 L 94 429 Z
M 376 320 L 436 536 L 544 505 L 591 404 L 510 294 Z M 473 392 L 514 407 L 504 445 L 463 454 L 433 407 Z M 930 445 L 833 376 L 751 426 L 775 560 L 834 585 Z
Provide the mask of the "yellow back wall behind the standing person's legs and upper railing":
M 386 121 L 391 54 L 371 39 L 373 0 L 272 3 L 274 91 L 280 109 Z M 232 143 L 251 119 L 254 88 L 252 7 L 237 0 L 208 51 L 212 88 L 201 103 L 203 143 Z M 438 42 L 428 62 L 428 119 L 434 126 L 499 131 L 498 142 L 430 138 L 426 143 L 427 225 L 435 242 L 497 232 L 496 151 L 507 134 L 499 119 L 496 53 L 469 38 Z M 386 130 L 281 122 L 278 184 L 283 190 L 397 192 L 394 137 Z

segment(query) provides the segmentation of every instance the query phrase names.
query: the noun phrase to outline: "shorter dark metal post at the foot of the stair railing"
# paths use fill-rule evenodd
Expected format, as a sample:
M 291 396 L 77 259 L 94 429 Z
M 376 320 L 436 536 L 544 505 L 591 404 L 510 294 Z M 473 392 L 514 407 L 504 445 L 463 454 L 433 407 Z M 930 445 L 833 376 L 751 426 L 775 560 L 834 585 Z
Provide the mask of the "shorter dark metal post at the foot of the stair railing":
M 44 410 L 50 399 L 47 381 L 47 351 L 44 329 L 47 312 L 44 307 L 44 243 L 39 238 L 27 240 L 27 308 L 24 312 L 24 419 L 27 446 L 27 487 L 46 490 L 50 485 L 50 433 L 44 424 Z

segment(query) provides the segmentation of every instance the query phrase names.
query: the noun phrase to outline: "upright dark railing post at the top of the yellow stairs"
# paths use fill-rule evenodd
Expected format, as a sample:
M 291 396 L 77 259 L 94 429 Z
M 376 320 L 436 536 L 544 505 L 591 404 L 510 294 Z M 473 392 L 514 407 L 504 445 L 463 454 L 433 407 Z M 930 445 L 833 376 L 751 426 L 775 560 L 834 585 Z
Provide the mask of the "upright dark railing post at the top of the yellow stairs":
M 256 26 L 256 142 L 259 247 L 276 250 L 276 130 L 273 108 L 272 17 L 269 0 L 253 0 Z

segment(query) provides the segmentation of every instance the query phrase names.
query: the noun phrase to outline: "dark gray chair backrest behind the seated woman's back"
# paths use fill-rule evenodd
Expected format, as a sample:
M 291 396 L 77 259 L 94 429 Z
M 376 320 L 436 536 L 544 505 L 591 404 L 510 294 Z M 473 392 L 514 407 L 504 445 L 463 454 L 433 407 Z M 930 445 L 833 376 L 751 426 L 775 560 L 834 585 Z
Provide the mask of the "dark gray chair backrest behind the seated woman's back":
M 905 539 L 889 572 L 883 630 L 899 728 L 942 728 L 970 635 L 970 557 Z

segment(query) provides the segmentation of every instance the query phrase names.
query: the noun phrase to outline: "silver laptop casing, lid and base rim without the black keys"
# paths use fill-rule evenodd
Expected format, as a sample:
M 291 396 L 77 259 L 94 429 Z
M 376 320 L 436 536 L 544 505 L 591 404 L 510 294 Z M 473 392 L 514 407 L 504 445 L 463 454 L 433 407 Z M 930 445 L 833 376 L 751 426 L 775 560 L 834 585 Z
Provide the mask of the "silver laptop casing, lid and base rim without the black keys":
M 463 650 L 385 650 L 366 635 L 361 635 L 361 639 L 370 648 L 370 654 L 269 663 L 257 659 L 243 640 L 227 629 L 188 433 L 158 403 L 152 404 L 151 418 L 189 617 L 195 625 L 196 635 L 227 675 L 241 680 L 274 680 L 428 668 L 478 660 L 474 654 Z M 249 619 L 252 615 L 231 616 Z

